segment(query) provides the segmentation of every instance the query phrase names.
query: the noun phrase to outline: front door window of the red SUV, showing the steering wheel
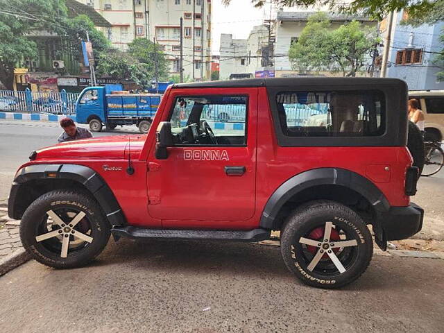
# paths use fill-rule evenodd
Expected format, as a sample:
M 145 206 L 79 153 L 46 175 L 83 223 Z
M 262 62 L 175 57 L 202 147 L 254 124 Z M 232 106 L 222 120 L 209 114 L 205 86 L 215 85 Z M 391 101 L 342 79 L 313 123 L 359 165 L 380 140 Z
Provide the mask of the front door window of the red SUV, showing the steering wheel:
M 247 96 L 177 97 L 170 118 L 176 144 L 245 145 L 247 104 Z

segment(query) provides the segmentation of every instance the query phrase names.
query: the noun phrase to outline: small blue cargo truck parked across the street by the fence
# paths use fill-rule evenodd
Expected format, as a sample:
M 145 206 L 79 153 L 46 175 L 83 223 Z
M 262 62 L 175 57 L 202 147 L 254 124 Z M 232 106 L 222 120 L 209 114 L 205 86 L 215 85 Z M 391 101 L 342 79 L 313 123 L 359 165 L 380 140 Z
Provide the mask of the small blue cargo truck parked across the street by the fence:
M 121 85 L 87 87 L 76 102 L 76 121 L 87 123 L 94 132 L 103 126 L 136 125 L 140 133 L 148 133 L 151 121 L 160 104 L 161 94 L 112 94 L 122 90 Z

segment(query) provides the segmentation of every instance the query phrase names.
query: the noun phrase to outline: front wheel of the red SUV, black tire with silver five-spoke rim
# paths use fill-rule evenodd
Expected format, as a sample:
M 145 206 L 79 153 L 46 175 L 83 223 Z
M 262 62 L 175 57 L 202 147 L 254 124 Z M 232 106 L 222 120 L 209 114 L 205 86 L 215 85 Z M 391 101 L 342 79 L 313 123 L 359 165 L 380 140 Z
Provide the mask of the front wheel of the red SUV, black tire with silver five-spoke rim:
M 49 219 L 53 213 L 60 223 Z M 76 216 L 84 217 L 70 228 L 69 223 Z M 45 234 L 51 237 L 37 239 Z M 84 266 L 102 252 L 110 239 L 110 225 L 99 204 L 88 194 L 55 190 L 40 196 L 26 209 L 20 223 L 20 239 L 37 262 L 54 268 L 74 268 Z M 62 257 L 66 239 L 67 252 Z

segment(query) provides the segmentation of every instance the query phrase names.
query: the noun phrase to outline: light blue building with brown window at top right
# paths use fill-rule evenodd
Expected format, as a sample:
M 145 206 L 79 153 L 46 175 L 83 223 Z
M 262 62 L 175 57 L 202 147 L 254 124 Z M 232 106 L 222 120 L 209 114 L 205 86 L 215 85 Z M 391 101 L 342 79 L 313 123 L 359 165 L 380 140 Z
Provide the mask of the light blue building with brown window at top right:
M 436 53 L 444 49 L 439 40 L 444 22 L 413 27 L 401 24 L 403 19 L 407 19 L 407 12 L 394 13 L 386 76 L 406 81 L 411 90 L 444 89 L 444 82 L 436 79 L 442 69 L 434 64 Z M 386 38 L 387 19 L 379 28 Z

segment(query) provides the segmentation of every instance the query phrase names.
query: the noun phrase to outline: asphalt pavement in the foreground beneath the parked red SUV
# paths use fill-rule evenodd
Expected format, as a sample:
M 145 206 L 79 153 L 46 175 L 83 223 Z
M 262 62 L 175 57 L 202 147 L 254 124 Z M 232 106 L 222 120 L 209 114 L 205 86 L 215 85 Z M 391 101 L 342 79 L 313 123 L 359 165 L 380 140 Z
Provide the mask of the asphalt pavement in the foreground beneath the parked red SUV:
M 0 278 L 0 332 L 443 332 L 444 264 L 375 256 L 339 291 L 300 284 L 279 248 L 111 241 L 92 266 Z

